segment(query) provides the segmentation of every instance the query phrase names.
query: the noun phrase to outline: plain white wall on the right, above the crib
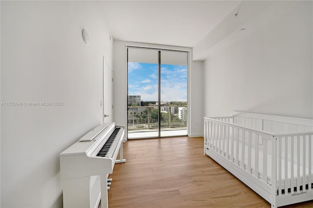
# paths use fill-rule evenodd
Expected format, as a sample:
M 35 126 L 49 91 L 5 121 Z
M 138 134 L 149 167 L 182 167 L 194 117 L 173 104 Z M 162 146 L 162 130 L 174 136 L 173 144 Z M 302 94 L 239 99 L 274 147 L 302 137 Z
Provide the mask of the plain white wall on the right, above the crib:
M 204 116 L 240 110 L 313 118 L 312 1 L 295 4 L 205 60 Z

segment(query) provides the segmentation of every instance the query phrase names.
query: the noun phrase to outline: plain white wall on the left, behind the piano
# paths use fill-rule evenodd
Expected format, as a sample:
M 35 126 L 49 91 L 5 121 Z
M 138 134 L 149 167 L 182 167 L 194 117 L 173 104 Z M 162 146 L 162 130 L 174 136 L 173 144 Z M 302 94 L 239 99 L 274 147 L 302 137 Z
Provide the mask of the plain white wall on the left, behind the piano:
M 1 106 L 1 207 L 62 207 L 59 153 L 102 122 L 109 31 L 98 2 L 0 3 L 1 102 L 63 102 Z

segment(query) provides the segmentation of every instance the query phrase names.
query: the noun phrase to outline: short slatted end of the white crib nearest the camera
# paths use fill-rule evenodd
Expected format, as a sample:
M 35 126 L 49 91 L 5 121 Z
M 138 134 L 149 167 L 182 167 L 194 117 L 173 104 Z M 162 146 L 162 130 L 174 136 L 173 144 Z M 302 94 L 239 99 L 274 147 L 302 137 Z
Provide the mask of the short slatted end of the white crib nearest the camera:
M 277 194 L 296 194 L 313 190 L 313 132 L 284 133 L 275 135 L 274 138 L 277 141 L 278 158 Z

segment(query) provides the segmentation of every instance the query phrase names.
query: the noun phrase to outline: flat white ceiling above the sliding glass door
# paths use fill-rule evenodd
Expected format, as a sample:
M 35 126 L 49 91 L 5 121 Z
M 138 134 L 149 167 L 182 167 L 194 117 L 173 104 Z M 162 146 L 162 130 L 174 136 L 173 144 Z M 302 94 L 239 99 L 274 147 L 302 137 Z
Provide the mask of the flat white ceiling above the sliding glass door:
M 193 47 L 240 1 L 102 1 L 114 40 Z

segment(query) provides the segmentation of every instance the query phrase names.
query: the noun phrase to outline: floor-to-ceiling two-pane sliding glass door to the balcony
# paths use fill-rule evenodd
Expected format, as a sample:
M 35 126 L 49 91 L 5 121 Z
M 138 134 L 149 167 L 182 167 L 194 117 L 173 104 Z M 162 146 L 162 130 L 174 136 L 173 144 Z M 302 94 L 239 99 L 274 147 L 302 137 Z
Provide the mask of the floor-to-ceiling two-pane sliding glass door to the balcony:
M 128 138 L 187 135 L 188 53 L 128 47 Z

